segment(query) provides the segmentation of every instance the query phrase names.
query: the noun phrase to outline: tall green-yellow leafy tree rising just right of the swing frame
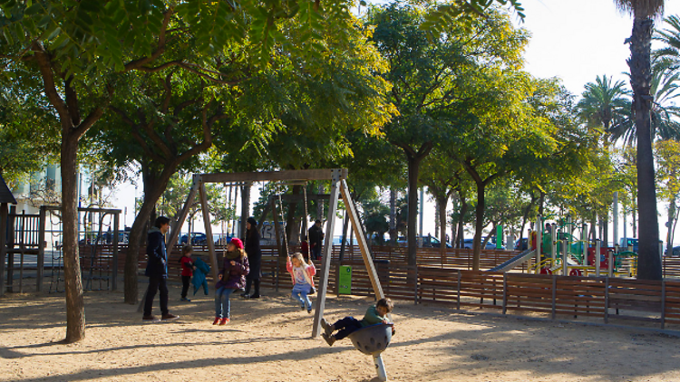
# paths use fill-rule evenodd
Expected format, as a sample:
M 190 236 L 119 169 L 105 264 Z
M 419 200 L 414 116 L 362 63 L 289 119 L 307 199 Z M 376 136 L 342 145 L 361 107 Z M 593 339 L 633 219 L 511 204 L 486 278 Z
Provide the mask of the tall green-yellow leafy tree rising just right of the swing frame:
M 421 162 L 461 112 L 461 88 L 477 62 L 519 62 L 526 35 L 514 30 L 506 16 L 489 12 L 472 24 L 454 22 L 434 31 L 421 27 L 433 9 L 392 3 L 373 7 L 366 16 L 374 24 L 373 42 L 390 71 L 391 100 L 399 116 L 385 125 L 385 137 L 403 151 L 408 168 L 408 260 L 415 263 L 417 188 Z M 502 63 L 501 63 L 502 62 Z M 450 130 L 450 129 L 448 129 Z

